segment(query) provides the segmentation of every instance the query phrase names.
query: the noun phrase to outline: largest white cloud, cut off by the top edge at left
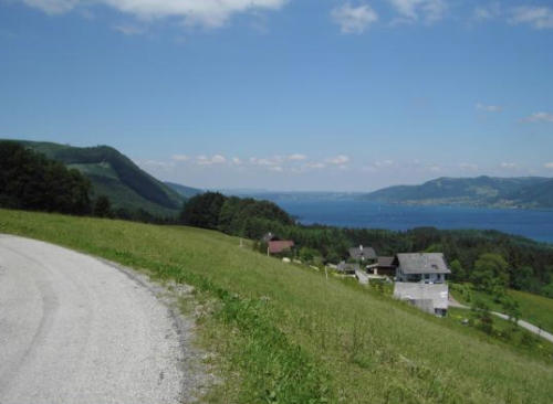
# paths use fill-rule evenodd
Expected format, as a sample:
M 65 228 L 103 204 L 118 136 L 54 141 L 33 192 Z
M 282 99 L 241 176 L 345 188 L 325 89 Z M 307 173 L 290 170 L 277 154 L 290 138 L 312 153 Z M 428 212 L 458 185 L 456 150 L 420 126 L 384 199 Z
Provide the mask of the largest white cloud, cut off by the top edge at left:
M 103 4 L 143 20 L 181 18 L 187 25 L 220 28 L 236 13 L 278 10 L 288 0 L 23 0 L 49 14 Z

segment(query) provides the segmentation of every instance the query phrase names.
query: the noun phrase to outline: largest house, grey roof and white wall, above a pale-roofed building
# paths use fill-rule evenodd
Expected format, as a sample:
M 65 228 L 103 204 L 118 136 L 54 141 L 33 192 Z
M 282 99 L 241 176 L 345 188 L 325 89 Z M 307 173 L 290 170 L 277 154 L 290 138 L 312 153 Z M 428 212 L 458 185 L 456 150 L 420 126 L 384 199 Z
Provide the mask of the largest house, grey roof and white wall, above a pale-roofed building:
M 444 284 L 451 274 L 442 253 L 397 254 L 396 280 L 421 284 Z

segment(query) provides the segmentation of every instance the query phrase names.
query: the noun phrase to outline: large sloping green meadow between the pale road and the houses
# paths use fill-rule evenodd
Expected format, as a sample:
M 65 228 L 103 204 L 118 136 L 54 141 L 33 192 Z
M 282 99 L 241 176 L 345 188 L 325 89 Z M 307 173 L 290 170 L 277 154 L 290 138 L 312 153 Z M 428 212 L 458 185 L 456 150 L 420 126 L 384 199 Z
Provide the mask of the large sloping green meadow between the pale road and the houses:
M 3 210 L 0 232 L 196 286 L 213 301 L 200 331 L 228 379 L 213 402 L 549 403 L 553 396 L 551 358 L 531 358 L 357 285 L 326 281 L 220 233 Z

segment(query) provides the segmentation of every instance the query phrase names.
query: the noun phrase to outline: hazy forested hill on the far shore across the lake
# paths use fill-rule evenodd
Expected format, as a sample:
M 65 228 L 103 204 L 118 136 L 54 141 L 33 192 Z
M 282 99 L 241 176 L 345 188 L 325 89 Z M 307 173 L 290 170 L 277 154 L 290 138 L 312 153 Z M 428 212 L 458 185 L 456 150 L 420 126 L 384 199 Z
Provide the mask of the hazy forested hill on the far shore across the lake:
M 385 188 L 363 200 L 403 204 L 462 204 L 472 206 L 553 209 L 553 179 L 438 178 L 421 185 Z

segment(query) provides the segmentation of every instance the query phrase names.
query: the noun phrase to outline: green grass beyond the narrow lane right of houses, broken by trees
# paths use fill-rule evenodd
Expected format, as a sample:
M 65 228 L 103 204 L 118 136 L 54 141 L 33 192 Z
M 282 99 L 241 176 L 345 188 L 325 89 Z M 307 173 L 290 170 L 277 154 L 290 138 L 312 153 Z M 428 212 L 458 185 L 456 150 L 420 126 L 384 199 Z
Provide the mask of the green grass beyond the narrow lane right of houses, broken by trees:
M 470 301 L 467 301 L 460 294 L 456 291 L 452 294 L 459 302 L 470 305 Z M 472 291 L 471 294 L 488 302 L 493 310 L 502 311 L 501 305 L 494 302 L 491 296 L 482 291 Z M 508 294 L 519 302 L 522 320 L 553 332 L 553 299 L 512 289 Z

